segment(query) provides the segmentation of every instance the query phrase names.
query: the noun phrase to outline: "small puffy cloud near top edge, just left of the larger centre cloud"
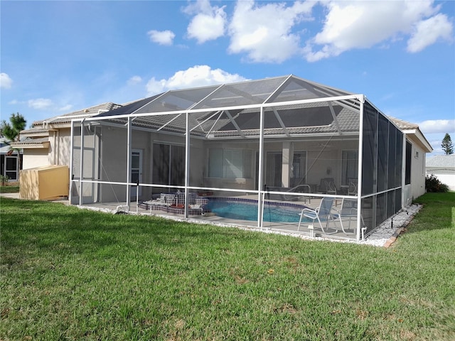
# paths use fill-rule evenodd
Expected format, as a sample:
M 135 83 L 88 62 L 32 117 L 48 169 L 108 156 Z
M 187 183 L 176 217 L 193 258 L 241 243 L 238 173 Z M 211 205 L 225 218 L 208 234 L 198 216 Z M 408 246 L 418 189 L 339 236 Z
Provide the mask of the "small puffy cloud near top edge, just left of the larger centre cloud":
M 189 38 L 196 38 L 198 43 L 220 38 L 225 34 L 227 16 L 225 6 L 210 6 L 208 0 L 198 0 L 183 9 L 188 14 L 196 14 L 187 28 Z

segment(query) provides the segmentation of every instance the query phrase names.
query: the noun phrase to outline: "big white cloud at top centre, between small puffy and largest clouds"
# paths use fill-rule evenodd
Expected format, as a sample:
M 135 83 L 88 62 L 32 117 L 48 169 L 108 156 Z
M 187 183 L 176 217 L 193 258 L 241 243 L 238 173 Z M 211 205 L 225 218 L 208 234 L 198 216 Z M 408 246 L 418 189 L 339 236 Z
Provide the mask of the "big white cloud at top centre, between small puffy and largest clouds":
M 263 3 L 262 3 L 263 4 Z M 310 20 L 314 1 L 284 3 L 238 1 L 229 26 L 230 53 L 247 53 L 253 62 L 281 63 L 300 50 L 300 36 L 294 26 Z

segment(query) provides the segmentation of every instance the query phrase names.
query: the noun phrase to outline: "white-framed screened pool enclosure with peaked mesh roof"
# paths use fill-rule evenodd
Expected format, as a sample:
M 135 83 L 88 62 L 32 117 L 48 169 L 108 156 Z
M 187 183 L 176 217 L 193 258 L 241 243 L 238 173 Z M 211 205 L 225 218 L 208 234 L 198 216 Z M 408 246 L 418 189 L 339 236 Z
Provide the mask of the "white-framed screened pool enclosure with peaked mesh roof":
M 361 239 L 406 204 L 402 131 L 294 75 L 170 90 L 71 131 L 75 205 Z

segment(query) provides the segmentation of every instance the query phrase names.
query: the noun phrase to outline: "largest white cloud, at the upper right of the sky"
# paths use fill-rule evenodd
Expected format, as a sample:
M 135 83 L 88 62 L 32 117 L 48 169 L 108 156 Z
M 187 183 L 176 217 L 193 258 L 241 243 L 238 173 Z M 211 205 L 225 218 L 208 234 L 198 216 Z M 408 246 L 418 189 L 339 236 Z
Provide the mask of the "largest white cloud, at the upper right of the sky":
M 451 36 L 447 17 L 437 14 L 440 6 L 424 1 L 326 1 L 328 10 L 321 32 L 307 42 L 306 60 L 329 58 L 354 48 L 370 48 L 407 36 L 408 50 L 417 52 L 439 37 Z M 428 29 L 433 25 L 432 29 Z

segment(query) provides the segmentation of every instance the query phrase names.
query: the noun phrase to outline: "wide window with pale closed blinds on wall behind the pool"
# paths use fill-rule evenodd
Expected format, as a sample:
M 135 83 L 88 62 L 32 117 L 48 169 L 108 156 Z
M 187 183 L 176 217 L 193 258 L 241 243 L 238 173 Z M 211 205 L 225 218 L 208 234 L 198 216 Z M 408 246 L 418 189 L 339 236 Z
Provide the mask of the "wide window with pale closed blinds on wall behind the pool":
M 246 149 L 210 148 L 210 178 L 251 178 L 252 152 Z

